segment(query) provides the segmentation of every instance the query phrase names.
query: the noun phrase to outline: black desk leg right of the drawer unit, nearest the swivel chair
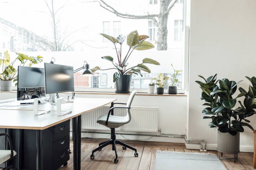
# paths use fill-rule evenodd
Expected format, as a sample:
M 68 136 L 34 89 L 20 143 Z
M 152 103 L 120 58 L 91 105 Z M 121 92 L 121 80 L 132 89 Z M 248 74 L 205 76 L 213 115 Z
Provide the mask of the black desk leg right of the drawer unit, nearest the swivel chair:
M 74 170 L 81 169 L 81 115 L 72 118 Z

